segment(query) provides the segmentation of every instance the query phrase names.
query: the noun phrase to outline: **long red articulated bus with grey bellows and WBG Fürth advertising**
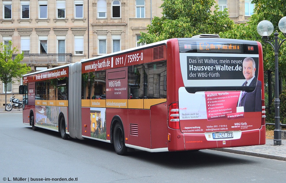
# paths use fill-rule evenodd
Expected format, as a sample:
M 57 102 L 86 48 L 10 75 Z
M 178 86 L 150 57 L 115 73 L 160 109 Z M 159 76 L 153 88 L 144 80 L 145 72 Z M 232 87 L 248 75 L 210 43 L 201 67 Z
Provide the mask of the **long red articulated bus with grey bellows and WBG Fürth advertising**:
M 23 76 L 23 123 L 148 152 L 265 144 L 262 46 L 174 38 Z

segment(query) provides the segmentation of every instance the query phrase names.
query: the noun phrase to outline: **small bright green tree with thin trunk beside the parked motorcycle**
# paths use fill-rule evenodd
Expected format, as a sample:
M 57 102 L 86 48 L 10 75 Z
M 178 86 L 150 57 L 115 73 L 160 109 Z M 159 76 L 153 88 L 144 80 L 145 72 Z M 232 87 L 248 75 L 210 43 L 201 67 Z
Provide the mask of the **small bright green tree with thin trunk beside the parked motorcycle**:
M 26 64 L 20 63 L 23 60 L 24 53 L 17 54 L 13 58 L 13 54 L 18 51 L 16 47 L 12 48 L 12 42 L 9 41 L 8 45 L 0 43 L 0 80 L 4 83 L 5 87 L 5 104 L 7 104 L 7 83 L 14 83 L 13 78 L 22 77 L 30 67 Z

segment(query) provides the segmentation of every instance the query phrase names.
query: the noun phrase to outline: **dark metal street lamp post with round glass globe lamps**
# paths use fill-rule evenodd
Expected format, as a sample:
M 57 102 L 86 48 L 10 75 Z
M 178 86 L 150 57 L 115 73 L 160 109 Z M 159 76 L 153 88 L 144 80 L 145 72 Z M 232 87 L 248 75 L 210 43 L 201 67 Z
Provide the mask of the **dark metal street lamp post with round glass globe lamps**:
M 284 33 L 286 38 L 286 17 L 280 19 L 278 27 L 281 32 Z M 257 32 L 262 36 L 264 42 L 269 43 L 274 49 L 275 56 L 275 130 L 274 130 L 274 146 L 280 146 L 282 144 L 281 140 L 281 127 L 280 127 L 280 99 L 279 99 L 279 69 L 278 69 L 278 51 L 282 43 L 286 39 L 280 39 L 278 37 L 278 32 L 275 31 L 274 38 L 271 40 L 269 36 L 273 33 L 273 24 L 268 20 L 263 20 L 257 25 Z M 274 43 L 274 45 L 272 44 Z

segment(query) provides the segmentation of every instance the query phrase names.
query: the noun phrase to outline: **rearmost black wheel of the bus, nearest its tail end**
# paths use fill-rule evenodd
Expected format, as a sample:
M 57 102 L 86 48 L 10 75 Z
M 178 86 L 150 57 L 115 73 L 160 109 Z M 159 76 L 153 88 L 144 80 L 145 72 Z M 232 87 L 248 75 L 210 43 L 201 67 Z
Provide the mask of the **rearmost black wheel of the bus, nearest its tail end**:
M 113 145 L 117 154 L 125 155 L 127 153 L 127 147 L 125 146 L 123 126 L 120 123 L 116 123 L 113 130 Z

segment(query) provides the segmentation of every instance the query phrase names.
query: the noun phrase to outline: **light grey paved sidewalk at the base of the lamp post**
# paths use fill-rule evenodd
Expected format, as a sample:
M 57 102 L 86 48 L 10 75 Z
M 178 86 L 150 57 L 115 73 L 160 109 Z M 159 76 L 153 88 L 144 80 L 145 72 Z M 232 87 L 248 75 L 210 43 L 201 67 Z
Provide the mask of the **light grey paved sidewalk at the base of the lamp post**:
M 216 148 L 211 150 L 286 161 L 285 143 L 286 140 L 282 139 L 281 146 L 274 146 L 273 139 L 266 139 L 265 145 L 245 146 L 245 147 L 235 147 L 235 148 Z

